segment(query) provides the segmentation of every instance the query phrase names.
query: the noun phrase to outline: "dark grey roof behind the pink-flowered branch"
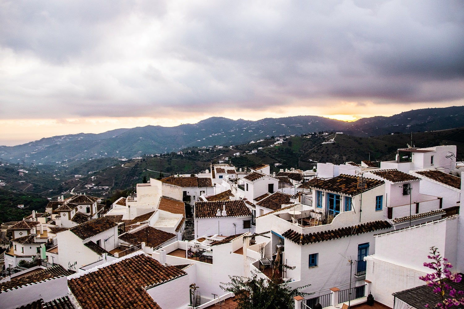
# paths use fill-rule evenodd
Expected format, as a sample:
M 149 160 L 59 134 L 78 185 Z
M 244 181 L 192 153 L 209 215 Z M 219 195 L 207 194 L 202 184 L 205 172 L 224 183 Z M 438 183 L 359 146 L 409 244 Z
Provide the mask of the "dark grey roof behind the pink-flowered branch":
M 459 283 L 452 282 L 448 279 L 445 279 L 445 281 L 447 284 L 451 286 L 451 288 L 455 290 L 459 290 L 459 291 L 464 290 L 464 280 L 462 280 Z M 402 300 L 403 302 L 407 303 L 409 305 L 407 306 L 407 308 L 425 309 L 427 308 L 425 306 L 427 303 L 433 304 L 433 303 L 442 302 L 441 297 L 437 294 L 434 294 L 433 288 L 428 286 L 427 284 L 419 285 L 419 286 L 416 286 L 415 288 L 402 290 L 399 292 L 394 292 L 392 295 Z M 450 309 L 458 309 L 458 308 L 462 308 L 462 306 L 453 305 L 450 307 Z

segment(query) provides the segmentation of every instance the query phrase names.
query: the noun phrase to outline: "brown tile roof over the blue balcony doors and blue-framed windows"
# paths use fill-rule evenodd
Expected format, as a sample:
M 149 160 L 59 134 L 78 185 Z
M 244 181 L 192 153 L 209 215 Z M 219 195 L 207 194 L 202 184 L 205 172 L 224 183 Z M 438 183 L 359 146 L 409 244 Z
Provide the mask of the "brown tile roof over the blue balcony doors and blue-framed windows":
M 370 189 L 374 189 L 375 187 L 385 183 L 383 180 L 371 179 L 367 177 L 363 177 L 363 181 L 366 183 L 366 189 L 363 190 L 364 192 Z M 361 193 L 361 189 L 358 189 L 358 177 L 344 174 L 327 179 L 323 183 L 313 184 L 312 187 L 317 190 L 349 196 L 354 196 Z

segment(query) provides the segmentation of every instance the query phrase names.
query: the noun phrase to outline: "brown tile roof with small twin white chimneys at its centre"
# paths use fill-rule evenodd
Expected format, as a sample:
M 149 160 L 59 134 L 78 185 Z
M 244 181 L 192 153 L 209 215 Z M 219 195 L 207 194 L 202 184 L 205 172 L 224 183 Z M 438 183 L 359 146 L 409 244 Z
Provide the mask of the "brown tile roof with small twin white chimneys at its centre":
M 251 216 L 250 209 L 246 207 L 243 200 L 240 201 L 215 201 L 215 202 L 195 202 L 193 216 L 195 218 L 215 218 L 219 210 L 222 213 L 222 206 L 226 205 L 226 217 L 247 217 Z

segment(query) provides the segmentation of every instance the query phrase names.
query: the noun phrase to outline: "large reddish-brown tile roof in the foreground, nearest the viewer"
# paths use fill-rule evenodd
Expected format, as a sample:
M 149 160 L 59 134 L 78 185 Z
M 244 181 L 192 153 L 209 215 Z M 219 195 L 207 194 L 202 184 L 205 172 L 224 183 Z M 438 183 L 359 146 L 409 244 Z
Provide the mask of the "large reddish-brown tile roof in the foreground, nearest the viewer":
M 145 254 L 68 280 L 82 308 L 161 309 L 147 289 L 185 276 L 175 266 L 163 266 Z

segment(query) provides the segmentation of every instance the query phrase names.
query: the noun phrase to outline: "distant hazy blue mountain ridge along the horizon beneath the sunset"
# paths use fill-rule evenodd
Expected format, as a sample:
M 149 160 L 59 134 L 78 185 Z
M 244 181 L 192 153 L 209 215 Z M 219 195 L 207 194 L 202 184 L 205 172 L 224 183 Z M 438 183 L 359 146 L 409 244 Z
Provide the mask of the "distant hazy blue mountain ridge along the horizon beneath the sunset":
M 279 135 L 343 132 L 358 137 L 444 130 L 464 126 L 464 107 L 425 108 L 354 122 L 319 116 L 262 120 L 212 117 L 174 127 L 144 126 L 99 134 L 60 135 L 16 146 L 0 146 L 0 160 L 22 164 L 56 164 L 91 158 L 134 158 L 188 147 L 239 145 Z

